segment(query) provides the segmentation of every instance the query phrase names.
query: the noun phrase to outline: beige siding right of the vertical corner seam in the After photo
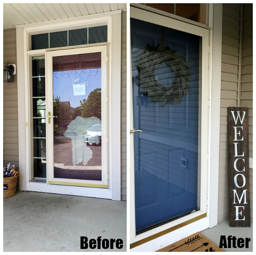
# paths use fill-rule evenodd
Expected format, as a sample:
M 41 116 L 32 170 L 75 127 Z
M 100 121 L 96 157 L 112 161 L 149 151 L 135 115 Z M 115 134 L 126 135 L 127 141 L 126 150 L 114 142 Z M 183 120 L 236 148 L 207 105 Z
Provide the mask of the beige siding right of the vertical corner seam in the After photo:
M 252 4 L 243 5 L 241 107 L 249 107 L 249 157 L 252 157 Z M 249 170 L 252 222 L 252 169 Z

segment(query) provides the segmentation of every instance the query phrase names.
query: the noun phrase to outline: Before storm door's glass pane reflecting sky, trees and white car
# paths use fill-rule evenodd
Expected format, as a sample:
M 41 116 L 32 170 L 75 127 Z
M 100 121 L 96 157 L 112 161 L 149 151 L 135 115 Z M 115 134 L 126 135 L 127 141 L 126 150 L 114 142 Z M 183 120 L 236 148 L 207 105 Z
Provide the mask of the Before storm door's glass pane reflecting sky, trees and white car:
M 101 181 L 101 52 L 53 57 L 54 178 Z

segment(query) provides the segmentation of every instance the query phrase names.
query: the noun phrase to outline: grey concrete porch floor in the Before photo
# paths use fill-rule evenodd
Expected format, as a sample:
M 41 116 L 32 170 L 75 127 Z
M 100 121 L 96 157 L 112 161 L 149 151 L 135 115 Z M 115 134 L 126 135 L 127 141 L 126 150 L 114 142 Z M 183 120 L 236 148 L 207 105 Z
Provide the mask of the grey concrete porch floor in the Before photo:
M 4 251 L 126 251 L 125 201 L 21 191 L 3 201 Z M 81 249 L 80 236 L 124 245 Z

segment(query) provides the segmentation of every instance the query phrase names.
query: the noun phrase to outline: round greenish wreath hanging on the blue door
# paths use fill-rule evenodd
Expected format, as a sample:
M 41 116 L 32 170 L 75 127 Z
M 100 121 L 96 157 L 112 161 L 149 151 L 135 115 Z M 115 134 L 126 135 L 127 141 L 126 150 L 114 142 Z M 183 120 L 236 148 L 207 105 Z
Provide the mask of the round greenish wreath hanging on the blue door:
M 155 79 L 155 69 L 165 63 L 170 67 L 175 77 L 170 88 L 162 86 Z M 157 45 L 149 46 L 135 62 L 138 70 L 138 86 L 145 96 L 152 98 L 154 102 L 161 102 L 162 106 L 171 103 L 181 103 L 182 97 L 189 94 L 189 64 L 186 59 L 169 47 Z

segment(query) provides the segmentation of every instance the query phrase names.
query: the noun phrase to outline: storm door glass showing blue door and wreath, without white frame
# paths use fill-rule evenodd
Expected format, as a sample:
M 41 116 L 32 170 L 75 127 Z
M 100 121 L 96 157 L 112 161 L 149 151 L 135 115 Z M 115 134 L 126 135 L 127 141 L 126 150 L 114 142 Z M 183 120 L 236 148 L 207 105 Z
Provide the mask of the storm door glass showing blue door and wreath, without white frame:
M 201 38 L 131 19 L 136 233 L 200 209 Z

